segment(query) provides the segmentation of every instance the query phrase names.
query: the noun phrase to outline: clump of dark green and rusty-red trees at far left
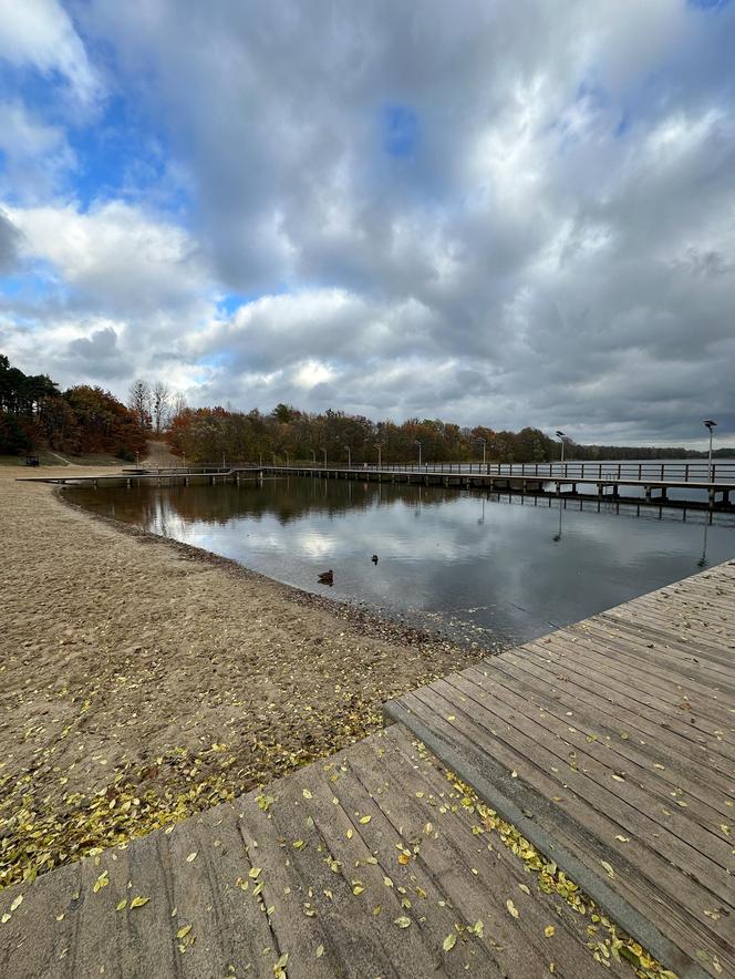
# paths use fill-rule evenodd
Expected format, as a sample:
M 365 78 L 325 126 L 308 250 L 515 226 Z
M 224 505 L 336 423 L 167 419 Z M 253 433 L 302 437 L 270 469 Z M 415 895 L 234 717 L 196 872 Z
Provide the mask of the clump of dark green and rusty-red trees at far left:
M 108 391 L 77 384 L 61 391 L 46 374 L 24 374 L 0 353 L 0 455 L 54 449 L 134 461 L 146 432 Z

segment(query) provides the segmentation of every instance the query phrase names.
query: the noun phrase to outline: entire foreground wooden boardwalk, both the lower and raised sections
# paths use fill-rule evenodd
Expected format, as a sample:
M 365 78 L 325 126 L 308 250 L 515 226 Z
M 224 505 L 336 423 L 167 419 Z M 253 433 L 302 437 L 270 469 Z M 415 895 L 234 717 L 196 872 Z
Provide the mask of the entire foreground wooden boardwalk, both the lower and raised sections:
M 2 892 L 0 975 L 632 976 L 565 873 L 674 973 L 735 975 L 735 563 L 386 712 L 262 792 Z

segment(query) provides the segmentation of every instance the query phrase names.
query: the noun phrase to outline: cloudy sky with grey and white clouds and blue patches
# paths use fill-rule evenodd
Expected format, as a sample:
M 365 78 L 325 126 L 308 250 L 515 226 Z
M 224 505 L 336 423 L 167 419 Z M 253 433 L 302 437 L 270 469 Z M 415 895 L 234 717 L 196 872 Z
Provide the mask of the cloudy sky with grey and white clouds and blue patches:
M 726 440 L 734 50 L 735 0 L 0 0 L 0 351 Z

